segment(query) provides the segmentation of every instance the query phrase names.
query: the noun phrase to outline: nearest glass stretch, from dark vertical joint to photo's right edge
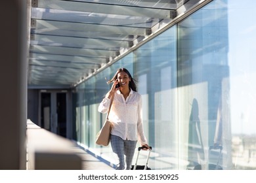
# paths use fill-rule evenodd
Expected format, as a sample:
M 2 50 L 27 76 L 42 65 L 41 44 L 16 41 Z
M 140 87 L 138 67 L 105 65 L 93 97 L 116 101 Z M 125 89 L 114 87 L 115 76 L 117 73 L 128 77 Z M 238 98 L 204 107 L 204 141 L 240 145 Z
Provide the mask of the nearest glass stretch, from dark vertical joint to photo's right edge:
M 179 24 L 179 152 L 188 169 L 256 168 L 253 5 L 214 1 Z

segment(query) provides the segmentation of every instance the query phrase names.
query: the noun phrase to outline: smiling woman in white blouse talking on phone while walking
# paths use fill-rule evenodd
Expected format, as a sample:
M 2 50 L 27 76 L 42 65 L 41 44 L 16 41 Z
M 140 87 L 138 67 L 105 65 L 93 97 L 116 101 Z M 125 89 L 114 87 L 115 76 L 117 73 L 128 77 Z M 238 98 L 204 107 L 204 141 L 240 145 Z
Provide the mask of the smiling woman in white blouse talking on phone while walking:
M 125 68 L 118 69 L 108 84 L 112 87 L 98 107 L 98 112 L 108 112 L 110 97 L 114 97 L 108 120 L 113 123 L 110 143 L 117 154 L 117 170 L 131 169 L 133 155 L 139 139 L 141 146 L 149 149 L 142 127 L 142 97 L 137 92 L 136 84 Z M 125 158 L 124 158 L 125 157 Z

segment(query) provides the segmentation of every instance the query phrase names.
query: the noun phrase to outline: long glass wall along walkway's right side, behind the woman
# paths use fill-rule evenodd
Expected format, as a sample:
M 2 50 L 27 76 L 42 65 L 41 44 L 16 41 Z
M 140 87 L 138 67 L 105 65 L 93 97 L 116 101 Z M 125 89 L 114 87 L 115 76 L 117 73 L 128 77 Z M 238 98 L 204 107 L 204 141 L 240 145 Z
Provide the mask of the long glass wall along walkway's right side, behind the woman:
M 95 145 L 106 117 L 97 108 L 126 67 L 142 95 L 150 168 L 256 169 L 254 5 L 211 1 L 77 86 L 74 139 L 116 163 L 110 146 Z

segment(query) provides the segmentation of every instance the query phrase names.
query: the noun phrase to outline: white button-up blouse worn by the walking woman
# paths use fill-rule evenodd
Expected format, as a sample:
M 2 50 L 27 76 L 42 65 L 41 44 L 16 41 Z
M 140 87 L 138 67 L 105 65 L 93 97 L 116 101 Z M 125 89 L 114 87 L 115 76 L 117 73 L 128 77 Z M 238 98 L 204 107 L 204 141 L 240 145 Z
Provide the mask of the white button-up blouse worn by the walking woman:
M 98 106 L 98 112 L 108 112 L 110 99 L 104 98 Z M 129 96 L 123 97 L 119 90 L 114 93 L 114 100 L 110 108 L 108 120 L 114 124 L 111 134 L 121 137 L 123 140 L 137 141 L 140 144 L 147 143 L 142 125 L 142 97 L 138 92 L 131 90 Z

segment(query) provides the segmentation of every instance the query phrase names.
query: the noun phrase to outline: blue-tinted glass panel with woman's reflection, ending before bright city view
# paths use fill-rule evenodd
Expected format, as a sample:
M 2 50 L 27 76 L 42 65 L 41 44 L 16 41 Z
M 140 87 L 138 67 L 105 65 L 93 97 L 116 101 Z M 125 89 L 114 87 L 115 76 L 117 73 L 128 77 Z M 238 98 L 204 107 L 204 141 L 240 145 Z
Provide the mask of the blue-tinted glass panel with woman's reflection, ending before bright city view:
M 228 10 L 215 1 L 179 24 L 180 169 L 232 167 Z M 218 6 L 217 6 L 218 4 Z M 223 146 L 210 150 L 210 146 Z M 186 167 L 187 166 L 187 167 Z M 195 168 L 196 167 L 196 168 Z

